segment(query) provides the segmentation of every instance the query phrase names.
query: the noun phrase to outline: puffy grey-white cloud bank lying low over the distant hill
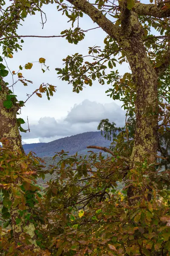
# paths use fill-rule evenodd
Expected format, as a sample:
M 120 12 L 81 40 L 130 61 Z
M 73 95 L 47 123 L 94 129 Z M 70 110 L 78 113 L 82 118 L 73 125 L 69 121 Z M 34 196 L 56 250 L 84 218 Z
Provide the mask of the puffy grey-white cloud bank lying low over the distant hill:
M 40 142 L 49 142 L 86 131 L 97 131 L 100 120 L 105 118 L 111 122 L 116 122 L 118 126 L 123 126 L 125 111 L 114 102 L 101 104 L 86 99 L 82 103 L 74 105 L 65 119 L 56 120 L 54 117 L 41 117 L 37 124 L 29 124 L 30 133 L 21 135 L 24 142 L 27 143 L 31 139 L 37 140 L 36 138 L 39 138 Z

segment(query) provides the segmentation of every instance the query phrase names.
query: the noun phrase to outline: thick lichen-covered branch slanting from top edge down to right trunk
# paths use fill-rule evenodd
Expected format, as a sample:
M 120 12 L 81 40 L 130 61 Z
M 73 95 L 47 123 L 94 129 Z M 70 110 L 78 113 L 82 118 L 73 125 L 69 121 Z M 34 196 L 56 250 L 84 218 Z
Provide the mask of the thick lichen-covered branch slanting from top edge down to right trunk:
M 108 20 L 108 18 L 105 17 L 105 15 L 103 15 L 102 12 L 94 7 L 91 3 L 89 3 L 87 0 L 67 1 L 91 17 L 91 19 L 96 22 L 112 38 L 119 40 L 119 26 L 114 25 L 111 20 Z

